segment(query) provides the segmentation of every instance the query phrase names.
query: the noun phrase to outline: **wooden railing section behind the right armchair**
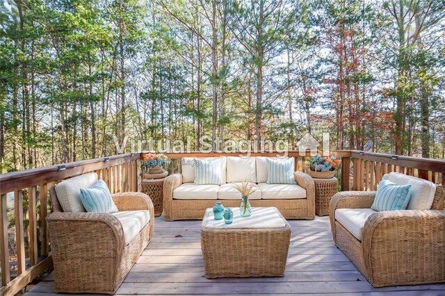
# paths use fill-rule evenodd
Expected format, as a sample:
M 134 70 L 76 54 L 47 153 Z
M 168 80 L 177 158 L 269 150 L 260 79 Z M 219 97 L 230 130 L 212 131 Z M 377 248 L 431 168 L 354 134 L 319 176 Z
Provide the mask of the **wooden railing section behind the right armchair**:
M 337 151 L 341 157 L 341 190 L 377 190 L 383 175 L 401 172 L 445 186 L 445 161 L 364 151 Z M 351 163 L 352 161 L 352 163 Z

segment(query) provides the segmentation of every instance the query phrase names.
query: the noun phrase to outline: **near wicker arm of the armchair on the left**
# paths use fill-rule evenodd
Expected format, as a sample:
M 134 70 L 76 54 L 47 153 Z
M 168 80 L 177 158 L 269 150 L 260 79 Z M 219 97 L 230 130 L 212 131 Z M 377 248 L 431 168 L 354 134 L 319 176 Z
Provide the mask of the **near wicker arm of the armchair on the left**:
M 56 212 L 47 217 L 47 222 L 56 279 L 60 282 L 66 274 L 72 274 L 73 280 L 81 281 L 106 270 L 109 277 L 102 286 L 113 291 L 125 247 L 118 218 L 109 213 Z

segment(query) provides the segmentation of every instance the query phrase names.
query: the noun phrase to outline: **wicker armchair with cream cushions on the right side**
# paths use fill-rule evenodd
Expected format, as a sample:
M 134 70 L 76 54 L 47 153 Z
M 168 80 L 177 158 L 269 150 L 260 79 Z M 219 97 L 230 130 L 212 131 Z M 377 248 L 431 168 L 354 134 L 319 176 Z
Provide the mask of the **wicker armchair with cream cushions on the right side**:
M 339 192 L 330 203 L 335 245 L 375 287 L 445 281 L 443 188 L 394 172 L 388 179 L 398 185 L 413 184 L 410 204 L 422 183 L 429 186 L 428 202 L 420 209 L 410 210 L 416 206 L 409 204 L 408 210 L 375 212 L 371 209 L 375 192 Z

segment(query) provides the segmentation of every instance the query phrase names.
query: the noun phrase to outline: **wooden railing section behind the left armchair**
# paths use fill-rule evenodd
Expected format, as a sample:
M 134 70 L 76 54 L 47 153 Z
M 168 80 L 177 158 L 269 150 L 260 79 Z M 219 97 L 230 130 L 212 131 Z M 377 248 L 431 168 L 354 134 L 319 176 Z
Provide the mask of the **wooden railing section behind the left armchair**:
M 121 154 L 1 174 L 0 295 L 15 295 L 39 274 L 52 268 L 51 245 L 45 220 L 50 211 L 48 190 L 51 186 L 72 176 L 96 172 L 99 178 L 106 181 L 111 193 L 138 191 L 138 159 L 139 154 Z M 8 197 L 14 200 L 14 205 L 9 208 Z M 28 202 L 24 203 L 24 199 Z M 27 205 L 26 208 L 24 205 Z M 13 242 L 16 245 L 16 258 L 10 258 L 10 222 L 15 224 Z M 25 231 L 28 233 L 28 248 L 25 248 Z

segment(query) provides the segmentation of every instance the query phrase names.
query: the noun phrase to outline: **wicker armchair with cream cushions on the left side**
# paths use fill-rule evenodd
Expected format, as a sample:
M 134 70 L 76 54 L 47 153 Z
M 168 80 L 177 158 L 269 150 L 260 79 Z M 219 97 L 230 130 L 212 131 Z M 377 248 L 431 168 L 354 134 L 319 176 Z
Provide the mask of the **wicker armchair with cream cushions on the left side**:
M 91 174 L 75 178 L 86 178 L 86 183 L 91 183 L 97 179 Z M 115 293 L 152 238 L 152 201 L 140 192 L 124 192 L 112 195 L 118 212 L 66 213 L 57 195 L 51 188 L 53 213 L 47 217 L 56 276 L 54 290 Z

